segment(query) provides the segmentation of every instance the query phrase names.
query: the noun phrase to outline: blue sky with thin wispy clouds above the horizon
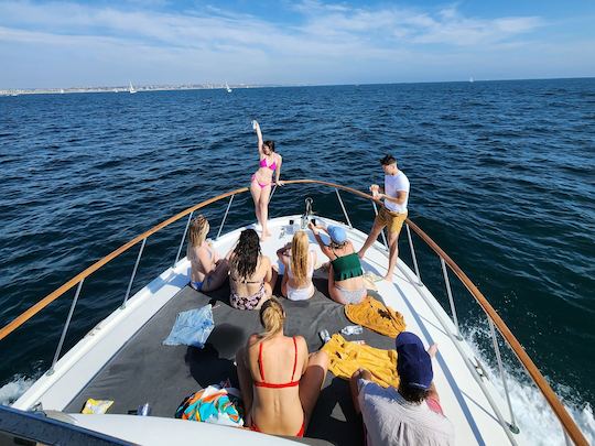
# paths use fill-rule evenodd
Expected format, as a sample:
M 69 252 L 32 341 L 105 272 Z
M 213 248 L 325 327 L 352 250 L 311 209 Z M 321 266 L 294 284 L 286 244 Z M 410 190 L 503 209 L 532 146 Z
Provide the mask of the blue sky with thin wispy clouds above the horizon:
M 0 0 L 0 89 L 595 76 L 594 1 Z

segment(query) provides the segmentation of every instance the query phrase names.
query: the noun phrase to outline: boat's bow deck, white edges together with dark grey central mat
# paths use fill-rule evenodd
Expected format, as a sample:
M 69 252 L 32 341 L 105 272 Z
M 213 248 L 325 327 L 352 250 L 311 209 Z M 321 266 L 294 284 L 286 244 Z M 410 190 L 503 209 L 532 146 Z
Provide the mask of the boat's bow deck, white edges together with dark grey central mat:
M 291 240 L 289 220 L 299 222 L 299 217 L 271 220 L 273 236 L 262 244 L 263 253 L 271 260 L 275 261 L 277 249 Z M 225 254 L 241 229 L 221 236 L 215 241 L 216 249 Z M 355 247 L 361 246 L 366 235 L 346 229 Z M 311 240 L 314 243 L 312 236 Z M 318 264 L 322 264 L 326 259 L 317 246 L 312 247 L 318 251 Z M 364 269 L 383 275 L 386 265 L 387 252 L 381 243 L 376 243 L 367 253 Z M 95 398 L 115 400 L 109 411 L 112 414 L 127 414 L 149 402 L 153 416 L 173 417 L 178 403 L 188 393 L 227 378 L 237 382 L 234 356 L 251 333 L 261 329 L 258 314 L 229 307 L 227 286 L 209 296 L 187 287 L 188 266 L 183 259 L 175 269 L 164 271 L 139 291 L 126 308 L 116 311 L 89 331 L 57 362 L 54 373 L 42 377 L 15 406 L 30 409 L 41 402 L 45 410 L 77 413 L 87 398 Z M 334 333 L 350 324 L 343 307 L 324 295 L 324 273 L 318 271 L 315 276 L 318 276 L 315 281 L 318 292 L 311 301 L 283 300 L 288 312 L 285 331 L 306 337 L 311 350 L 322 345 L 317 336 L 321 329 Z M 400 261 L 393 283 L 380 281 L 376 285 L 377 295 L 403 314 L 408 330 L 416 333 L 426 345 L 439 344 L 434 382 L 444 412 L 455 425 L 457 444 L 509 443 L 478 381 L 506 415 L 505 403 L 486 378 L 479 378 L 473 367 L 473 371 L 469 370 L 465 361 L 475 363 L 473 351 L 443 328 L 445 324 L 451 333 L 456 331 L 430 292 L 416 284 L 414 273 Z M 203 306 L 210 298 L 217 301 L 214 307 L 216 328 L 204 350 L 162 346 L 180 311 Z M 365 339 L 374 347 L 393 348 L 392 339 L 369 330 L 351 338 Z M 360 444 L 361 427 L 353 413 L 347 383 L 332 373 L 306 434 L 333 444 Z M 522 435 L 515 435 L 515 440 L 524 443 Z

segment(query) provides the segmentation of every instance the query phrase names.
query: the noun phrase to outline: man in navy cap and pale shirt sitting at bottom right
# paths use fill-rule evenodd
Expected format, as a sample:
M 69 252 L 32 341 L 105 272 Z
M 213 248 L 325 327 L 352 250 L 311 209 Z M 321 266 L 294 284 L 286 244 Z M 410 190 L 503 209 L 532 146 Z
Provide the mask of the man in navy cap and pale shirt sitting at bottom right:
M 371 373 L 357 370 L 350 381 L 356 413 L 361 413 L 368 446 L 452 446 L 454 426 L 444 416 L 432 382 L 431 355 L 412 333 L 397 336 L 399 389 L 371 382 Z

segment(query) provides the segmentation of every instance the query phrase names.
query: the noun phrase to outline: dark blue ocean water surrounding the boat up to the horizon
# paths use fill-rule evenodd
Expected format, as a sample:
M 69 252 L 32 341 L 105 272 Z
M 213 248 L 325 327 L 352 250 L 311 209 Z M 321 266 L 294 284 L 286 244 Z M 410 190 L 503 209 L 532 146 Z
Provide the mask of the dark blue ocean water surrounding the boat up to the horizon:
M 258 163 L 252 119 L 283 155 L 284 178 L 364 191 L 382 181 L 378 160 L 394 154 L 411 181 L 410 218 L 595 432 L 593 78 L 0 98 L 0 325 L 133 236 L 248 185 Z M 342 219 L 334 192 L 312 186 L 278 191 L 271 215 L 302 211 L 306 195 Z M 369 229 L 369 203 L 343 197 L 354 225 Z M 250 203 L 237 197 L 229 228 L 253 218 Z M 212 227 L 225 206 L 205 210 Z M 173 262 L 184 224 L 149 239 L 133 291 Z M 422 279 L 447 305 L 437 258 L 414 243 Z M 85 282 L 65 349 L 120 303 L 137 252 Z M 405 237 L 401 255 L 410 263 Z M 485 316 L 451 281 L 464 331 L 494 366 Z M 4 402 L 47 369 L 73 294 L 1 341 Z M 539 399 L 505 357 L 517 400 Z

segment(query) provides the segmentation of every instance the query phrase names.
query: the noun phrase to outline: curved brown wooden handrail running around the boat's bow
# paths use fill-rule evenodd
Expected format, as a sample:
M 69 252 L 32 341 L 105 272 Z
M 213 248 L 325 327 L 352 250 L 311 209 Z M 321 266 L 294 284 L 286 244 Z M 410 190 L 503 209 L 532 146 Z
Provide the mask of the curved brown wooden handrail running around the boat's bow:
M 376 202 L 378 204 L 381 204 L 380 200 L 375 199 L 371 195 L 363 193 L 360 191 L 354 189 L 351 187 L 343 186 L 339 184 L 331 183 L 331 182 L 323 182 L 317 180 L 289 180 L 284 181 L 284 184 L 318 184 L 323 186 L 329 186 L 335 187 L 345 192 L 349 192 L 354 195 L 357 195 L 361 198 L 366 198 L 372 202 Z M 35 314 L 41 312 L 43 308 L 45 308 L 47 305 L 50 305 L 52 302 L 54 302 L 56 298 L 58 298 L 61 295 L 66 293 L 68 290 L 71 290 L 73 286 L 75 286 L 80 280 L 89 276 L 95 271 L 100 269 L 106 263 L 110 262 L 121 253 L 128 251 L 130 248 L 132 248 L 134 244 L 137 244 L 139 241 L 143 240 L 147 237 L 150 237 L 151 235 L 158 232 L 159 230 L 165 228 L 166 226 L 171 225 L 172 222 L 177 221 L 182 217 L 201 209 L 205 206 L 208 206 L 215 202 L 218 202 L 220 199 L 227 198 L 231 195 L 237 194 L 244 194 L 248 192 L 247 187 L 241 187 L 239 189 L 235 189 L 221 195 L 218 195 L 214 198 L 209 198 L 205 202 L 202 202 L 197 205 L 194 205 L 192 207 L 188 207 L 187 209 L 174 215 L 173 217 L 170 217 L 169 219 L 160 222 L 159 225 L 152 227 L 148 231 L 141 233 L 140 236 L 134 237 L 132 240 L 127 242 L 126 244 L 122 244 L 120 248 L 116 249 L 108 255 L 104 257 L 102 259 L 98 260 L 90 266 L 88 266 L 86 270 L 82 271 L 77 275 L 75 275 L 73 279 L 71 279 L 68 282 L 50 293 L 47 296 L 45 296 L 43 300 L 31 306 L 29 309 L 23 312 L 21 315 L 19 315 L 17 318 L 14 318 L 11 323 L 7 324 L 4 327 L 0 329 L 0 340 L 6 338 L 9 334 L 14 331 L 17 328 L 19 328 L 21 325 L 23 325 L 26 320 L 29 320 L 31 317 L 33 317 Z M 550 407 L 554 412 L 555 416 L 562 424 L 564 431 L 567 433 L 567 435 L 571 437 L 571 439 L 576 445 L 585 445 L 588 446 L 588 443 L 574 422 L 574 420 L 570 416 L 563 404 L 558 399 L 556 394 L 545 380 L 545 378 L 541 374 L 534 362 L 531 360 L 529 355 L 524 351 L 521 344 L 517 340 L 515 335 L 510 331 L 510 329 L 507 327 L 502 318 L 498 315 L 498 313 L 494 309 L 494 307 L 489 304 L 487 298 L 482 294 L 482 292 L 475 286 L 475 284 L 470 281 L 470 279 L 463 272 L 463 270 L 450 258 L 446 252 L 442 250 L 442 248 L 439 247 L 439 244 L 430 238 L 418 225 L 415 225 L 413 221 L 411 221 L 409 218 L 407 219 L 407 224 L 415 233 L 442 259 L 444 259 L 444 262 L 448 265 L 448 268 L 455 273 L 455 275 L 463 282 L 467 291 L 472 294 L 472 296 L 475 298 L 475 301 L 479 304 L 479 306 L 484 309 L 486 315 L 494 322 L 494 325 L 498 328 L 498 331 L 501 334 L 504 339 L 507 341 L 507 344 L 510 346 L 519 361 L 522 363 L 538 389 L 541 391 L 543 396 L 545 398 L 545 401 L 550 404 Z

